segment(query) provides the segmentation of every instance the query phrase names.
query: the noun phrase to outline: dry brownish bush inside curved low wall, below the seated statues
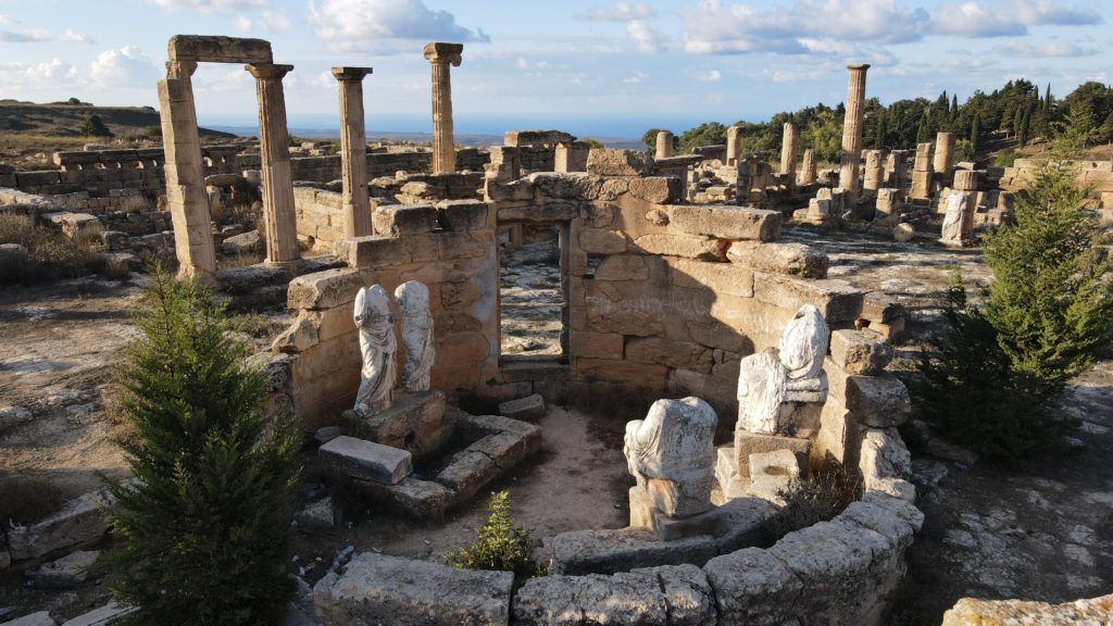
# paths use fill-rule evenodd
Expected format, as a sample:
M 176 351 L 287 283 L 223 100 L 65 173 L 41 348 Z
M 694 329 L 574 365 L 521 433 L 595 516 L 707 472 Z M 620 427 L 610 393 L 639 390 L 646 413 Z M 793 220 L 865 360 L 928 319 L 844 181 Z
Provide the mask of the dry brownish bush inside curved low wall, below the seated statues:
M 808 480 L 794 480 L 777 493 L 785 507 L 772 518 L 774 537 L 833 519 L 861 497 L 861 481 L 841 464 L 830 462 Z

